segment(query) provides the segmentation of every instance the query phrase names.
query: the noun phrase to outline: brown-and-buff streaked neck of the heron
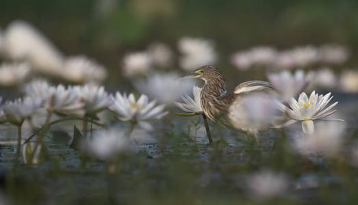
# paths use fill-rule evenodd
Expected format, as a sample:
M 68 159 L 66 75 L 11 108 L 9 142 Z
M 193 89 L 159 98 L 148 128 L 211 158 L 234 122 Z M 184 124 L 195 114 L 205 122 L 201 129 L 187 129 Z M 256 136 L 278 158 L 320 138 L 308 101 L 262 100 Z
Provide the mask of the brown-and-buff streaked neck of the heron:
M 219 98 L 225 95 L 226 90 L 225 80 L 222 77 L 205 81 L 203 90 L 201 90 L 201 106 L 210 120 L 214 121 L 225 109 Z

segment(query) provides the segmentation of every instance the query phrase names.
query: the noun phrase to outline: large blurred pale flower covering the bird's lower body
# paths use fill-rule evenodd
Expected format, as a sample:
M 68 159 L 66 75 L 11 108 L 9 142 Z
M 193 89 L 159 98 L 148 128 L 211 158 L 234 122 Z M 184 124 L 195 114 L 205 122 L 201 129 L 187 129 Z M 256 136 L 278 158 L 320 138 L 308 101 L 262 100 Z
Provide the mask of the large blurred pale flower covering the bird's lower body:
M 278 101 L 268 94 L 255 94 L 240 98 L 229 108 L 231 124 L 249 133 L 272 127 L 279 114 Z

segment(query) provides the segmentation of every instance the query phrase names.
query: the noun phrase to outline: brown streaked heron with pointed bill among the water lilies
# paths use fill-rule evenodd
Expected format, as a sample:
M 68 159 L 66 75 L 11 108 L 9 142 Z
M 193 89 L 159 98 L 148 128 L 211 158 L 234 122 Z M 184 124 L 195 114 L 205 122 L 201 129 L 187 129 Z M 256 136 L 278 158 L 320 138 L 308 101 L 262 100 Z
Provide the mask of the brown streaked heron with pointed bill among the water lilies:
M 203 113 L 213 122 L 219 122 L 223 126 L 233 127 L 237 130 L 246 131 L 257 139 L 259 131 L 266 131 L 273 127 L 271 123 L 248 124 L 242 120 L 238 111 L 244 109 L 245 99 L 256 94 L 269 96 L 277 95 L 277 91 L 266 81 L 246 81 L 235 87 L 233 92 L 227 92 L 225 79 L 220 71 L 214 66 L 202 66 L 196 70 L 184 74 L 181 79 L 201 79 L 204 85 L 201 90 L 201 107 Z

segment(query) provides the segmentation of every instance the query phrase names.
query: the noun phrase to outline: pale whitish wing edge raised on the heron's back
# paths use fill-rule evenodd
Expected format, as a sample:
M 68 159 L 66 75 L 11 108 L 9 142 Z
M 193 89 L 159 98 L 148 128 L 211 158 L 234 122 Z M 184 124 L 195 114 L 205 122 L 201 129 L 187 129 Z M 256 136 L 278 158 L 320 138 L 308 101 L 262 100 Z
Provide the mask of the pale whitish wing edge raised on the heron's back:
M 272 85 L 266 81 L 246 81 L 235 87 L 234 94 L 242 94 L 246 92 L 257 91 L 273 91 Z

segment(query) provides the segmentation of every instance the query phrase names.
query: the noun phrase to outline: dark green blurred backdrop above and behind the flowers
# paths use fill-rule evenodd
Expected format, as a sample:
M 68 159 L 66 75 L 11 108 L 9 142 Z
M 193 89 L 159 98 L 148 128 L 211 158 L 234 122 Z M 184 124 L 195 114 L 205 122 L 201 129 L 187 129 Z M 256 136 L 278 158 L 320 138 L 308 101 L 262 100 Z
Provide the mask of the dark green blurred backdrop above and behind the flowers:
M 181 71 L 179 62 L 179 41 L 186 37 L 210 41 L 216 60 L 209 63 L 223 72 L 231 89 L 241 81 L 265 79 L 264 70 L 243 71 L 233 64 L 234 53 L 257 46 L 286 51 L 335 44 L 349 53 L 339 66 L 330 67 L 335 74 L 358 64 L 358 2 L 354 0 L 3 0 L 0 16 L 3 31 L 14 20 L 25 20 L 60 52 L 98 61 L 109 73 L 105 85 L 110 90 L 129 86 L 123 78 L 125 55 L 156 42 L 176 56 L 168 69 L 190 70 Z

